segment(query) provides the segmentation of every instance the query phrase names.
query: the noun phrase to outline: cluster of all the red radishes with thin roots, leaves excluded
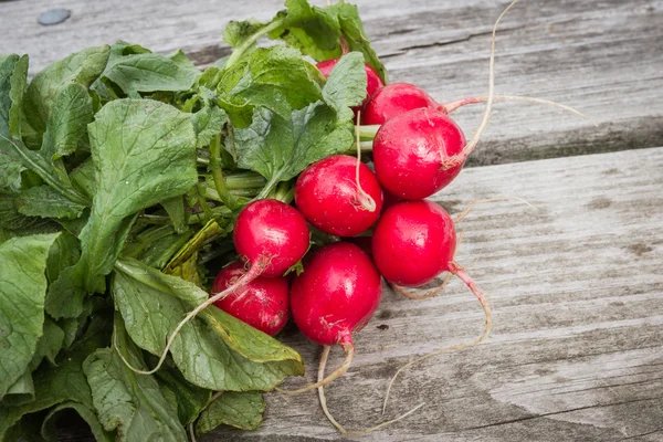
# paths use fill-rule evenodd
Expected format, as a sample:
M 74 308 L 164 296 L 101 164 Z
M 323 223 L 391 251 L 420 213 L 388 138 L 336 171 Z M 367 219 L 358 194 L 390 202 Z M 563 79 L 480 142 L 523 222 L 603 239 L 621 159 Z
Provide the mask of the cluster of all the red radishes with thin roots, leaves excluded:
M 406 288 L 423 286 L 449 272 L 480 301 L 486 315 L 481 337 L 435 354 L 476 345 L 490 333 L 486 298 L 454 260 L 454 220 L 425 199 L 461 172 L 487 125 L 494 101 L 530 101 L 569 109 L 536 98 L 494 95 L 497 23 L 486 97 L 440 104 L 415 85 L 385 85 L 366 64 L 367 97 L 354 108 L 357 157 L 333 155 L 306 168 L 296 179 L 294 207 L 273 199 L 256 200 L 236 219 L 233 240 L 239 260 L 219 273 L 209 303 L 272 336 L 292 315 L 305 337 L 325 346 L 318 381 L 280 391 L 299 393 L 317 388 L 325 413 L 346 434 L 359 433 L 348 433 L 334 420 L 323 388 L 348 370 L 355 355 L 352 334 L 364 328 L 378 308 L 382 277 L 403 295 L 418 297 Z M 323 61 L 317 67 L 328 76 L 338 61 Z M 450 114 L 474 103 L 486 103 L 486 107 L 467 141 Z M 375 135 L 368 164 L 361 162 L 360 128 Z M 311 230 L 332 241 L 309 248 Z M 439 292 L 419 297 L 432 297 Z M 345 350 L 346 358 L 325 377 L 329 347 L 335 345 Z M 432 355 L 424 358 L 429 356 Z

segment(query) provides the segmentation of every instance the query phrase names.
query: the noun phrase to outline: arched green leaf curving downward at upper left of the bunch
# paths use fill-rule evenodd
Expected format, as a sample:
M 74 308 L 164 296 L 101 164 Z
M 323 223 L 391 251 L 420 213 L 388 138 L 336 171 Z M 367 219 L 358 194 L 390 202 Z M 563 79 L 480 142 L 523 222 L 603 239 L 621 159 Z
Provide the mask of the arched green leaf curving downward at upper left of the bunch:
M 71 83 L 90 87 L 104 71 L 109 50 L 110 48 L 107 45 L 87 48 L 46 66 L 36 74 L 28 86 L 23 103 L 30 125 L 39 133 L 44 133 L 51 108 L 55 104 L 60 91 Z

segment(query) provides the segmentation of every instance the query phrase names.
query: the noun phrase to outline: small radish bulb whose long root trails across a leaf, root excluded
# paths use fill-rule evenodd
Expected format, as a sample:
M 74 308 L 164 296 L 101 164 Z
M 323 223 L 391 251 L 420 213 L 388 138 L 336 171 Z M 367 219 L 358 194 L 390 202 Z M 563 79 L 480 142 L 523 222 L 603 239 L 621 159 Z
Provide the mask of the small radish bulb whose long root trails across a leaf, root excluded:
M 252 266 L 265 261 L 262 276 L 282 276 L 308 250 L 308 225 L 295 208 L 277 200 L 257 200 L 238 217 L 233 241 Z

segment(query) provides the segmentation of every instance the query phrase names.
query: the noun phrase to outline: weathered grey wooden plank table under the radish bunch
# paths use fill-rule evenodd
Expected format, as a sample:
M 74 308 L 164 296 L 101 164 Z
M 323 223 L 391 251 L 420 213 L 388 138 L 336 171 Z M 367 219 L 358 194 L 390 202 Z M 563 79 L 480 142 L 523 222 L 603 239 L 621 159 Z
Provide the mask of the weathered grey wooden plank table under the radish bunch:
M 507 3 L 359 6 L 391 81 L 446 101 L 486 92 L 488 33 Z M 36 24 L 40 12 L 57 6 L 72 10 L 69 21 Z M 280 0 L 12 1 L 0 3 L 0 52 L 28 52 L 39 70 L 124 39 L 158 52 L 182 48 L 204 66 L 229 52 L 220 33 L 230 18 L 266 19 L 280 8 Z M 457 259 L 490 294 L 494 332 L 480 347 L 404 371 L 385 418 L 425 406 L 364 440 L 663 441 L 663 2 L 524 0 L 504 20 L 496 75 L 501 94 L 562 102 L 599 126 L 555 108 L 496 105 L 470 164 L 481 167 L 434 197 L 451 212 L 499 196 L 536 207 L 492 202 L 460 224 Z M 459 113 L 467 134 L 481 110 Z M 394 371 L 473 339 L 482 320 L 457 281 L 428 301 L 387 290 L 356 336 L 352 368 L 327 389 L 332 412 L 349 429 L 380 422 Z M 308 361 L 312 380 L 319 348 L 296 335 L 285 340 Z M 340 358 L 336 350 L 329 364 Z M 311 392 L 267 394 L 259 431 L 221 429 L 202 440 L 227 439 L 343 438 Z

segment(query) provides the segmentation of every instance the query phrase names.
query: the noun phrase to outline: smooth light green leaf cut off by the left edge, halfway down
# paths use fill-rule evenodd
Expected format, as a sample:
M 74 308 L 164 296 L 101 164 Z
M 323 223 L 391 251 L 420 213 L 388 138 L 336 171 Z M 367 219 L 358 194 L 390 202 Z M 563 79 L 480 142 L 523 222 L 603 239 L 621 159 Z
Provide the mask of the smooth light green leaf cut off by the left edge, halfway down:
M 57 234 L 0 244 L 0 399 L 32 359 L 44 323 L 46 257 Z

